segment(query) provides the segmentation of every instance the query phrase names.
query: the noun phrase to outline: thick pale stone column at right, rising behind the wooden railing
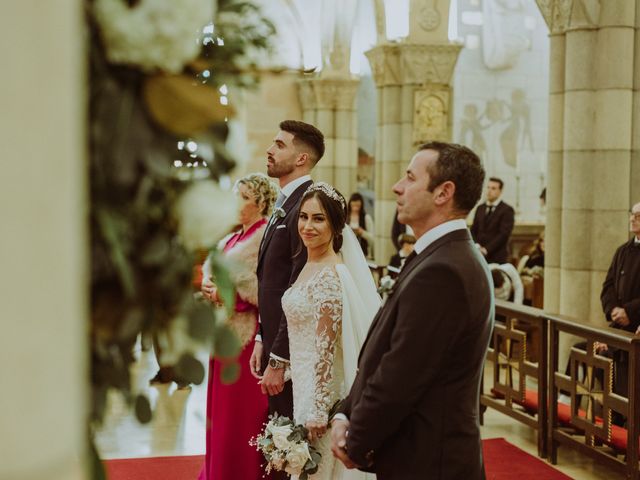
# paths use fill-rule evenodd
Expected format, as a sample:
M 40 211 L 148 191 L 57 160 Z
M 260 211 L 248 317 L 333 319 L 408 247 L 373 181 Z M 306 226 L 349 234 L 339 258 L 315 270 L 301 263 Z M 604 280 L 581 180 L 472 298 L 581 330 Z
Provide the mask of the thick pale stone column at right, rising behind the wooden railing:
M 628 238 L 627 211 L 637 188 L 638 12 L 636 2 L 538 5 L 551 31 L 552 62 L 545 308 L 602 325 L 602 282 L 613 252 Z M 636 58 L 638 48 L 635 39 Z

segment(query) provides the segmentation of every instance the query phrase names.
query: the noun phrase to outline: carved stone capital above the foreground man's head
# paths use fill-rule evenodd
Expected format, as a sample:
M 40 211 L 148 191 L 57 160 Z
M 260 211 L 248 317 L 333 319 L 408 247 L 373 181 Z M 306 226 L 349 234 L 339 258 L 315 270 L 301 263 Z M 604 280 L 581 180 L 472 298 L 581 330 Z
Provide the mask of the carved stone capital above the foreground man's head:
M 378 87 L 386 85 L 450 85 L 462 45 L 384 44 L 366 52 Z

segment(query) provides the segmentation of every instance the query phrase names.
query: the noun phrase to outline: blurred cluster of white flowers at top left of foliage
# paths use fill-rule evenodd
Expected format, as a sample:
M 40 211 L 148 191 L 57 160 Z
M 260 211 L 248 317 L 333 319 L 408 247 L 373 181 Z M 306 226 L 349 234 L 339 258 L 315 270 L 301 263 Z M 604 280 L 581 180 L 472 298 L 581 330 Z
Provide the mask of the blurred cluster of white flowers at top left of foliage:
M 180 73 L 198 56 L 200 36 L 213 21 L 212 0 L 96 0 L 94 16 L 107 58 L 143 71 Z

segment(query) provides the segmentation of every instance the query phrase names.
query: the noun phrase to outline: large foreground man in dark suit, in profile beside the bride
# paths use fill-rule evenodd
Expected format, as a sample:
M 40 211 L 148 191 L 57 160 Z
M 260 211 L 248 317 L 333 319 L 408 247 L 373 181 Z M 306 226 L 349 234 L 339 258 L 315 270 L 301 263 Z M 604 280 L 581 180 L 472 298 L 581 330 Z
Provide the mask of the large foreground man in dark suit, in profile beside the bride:
M 332 450 L 378 480 L 484 478 L 478 404 L 493 327 L 487 263 L 465 217 L 484 170 L 468 148 L 420 147 L 394 185 L 417 237 L 332 421 Z

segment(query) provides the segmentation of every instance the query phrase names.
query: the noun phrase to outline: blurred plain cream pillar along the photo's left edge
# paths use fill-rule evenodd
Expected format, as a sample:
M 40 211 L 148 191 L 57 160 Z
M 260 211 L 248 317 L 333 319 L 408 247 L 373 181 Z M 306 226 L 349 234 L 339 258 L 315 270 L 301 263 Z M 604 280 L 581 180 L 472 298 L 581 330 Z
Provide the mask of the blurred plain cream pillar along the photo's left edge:
M 0 16 L 0 478 L 87 478 L 84 7 Z

